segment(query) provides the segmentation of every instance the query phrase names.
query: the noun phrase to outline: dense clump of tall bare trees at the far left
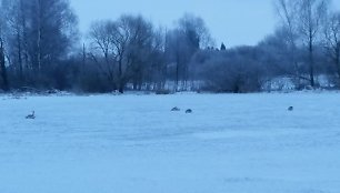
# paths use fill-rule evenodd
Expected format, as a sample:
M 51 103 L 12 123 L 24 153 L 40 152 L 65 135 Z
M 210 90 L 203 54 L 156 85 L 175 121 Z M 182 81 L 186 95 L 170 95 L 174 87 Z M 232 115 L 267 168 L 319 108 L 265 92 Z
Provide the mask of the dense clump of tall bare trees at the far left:
M 10 70 L 19 84 L 51 84 L 78 40 L 78 19 L 68 0 L 2 0 Z M 42 79 L 44 82 L 42 82 Z M 48 83 L 50 82 L 50 83 Z M 52 85 L 51 85 L 52 87 Z

